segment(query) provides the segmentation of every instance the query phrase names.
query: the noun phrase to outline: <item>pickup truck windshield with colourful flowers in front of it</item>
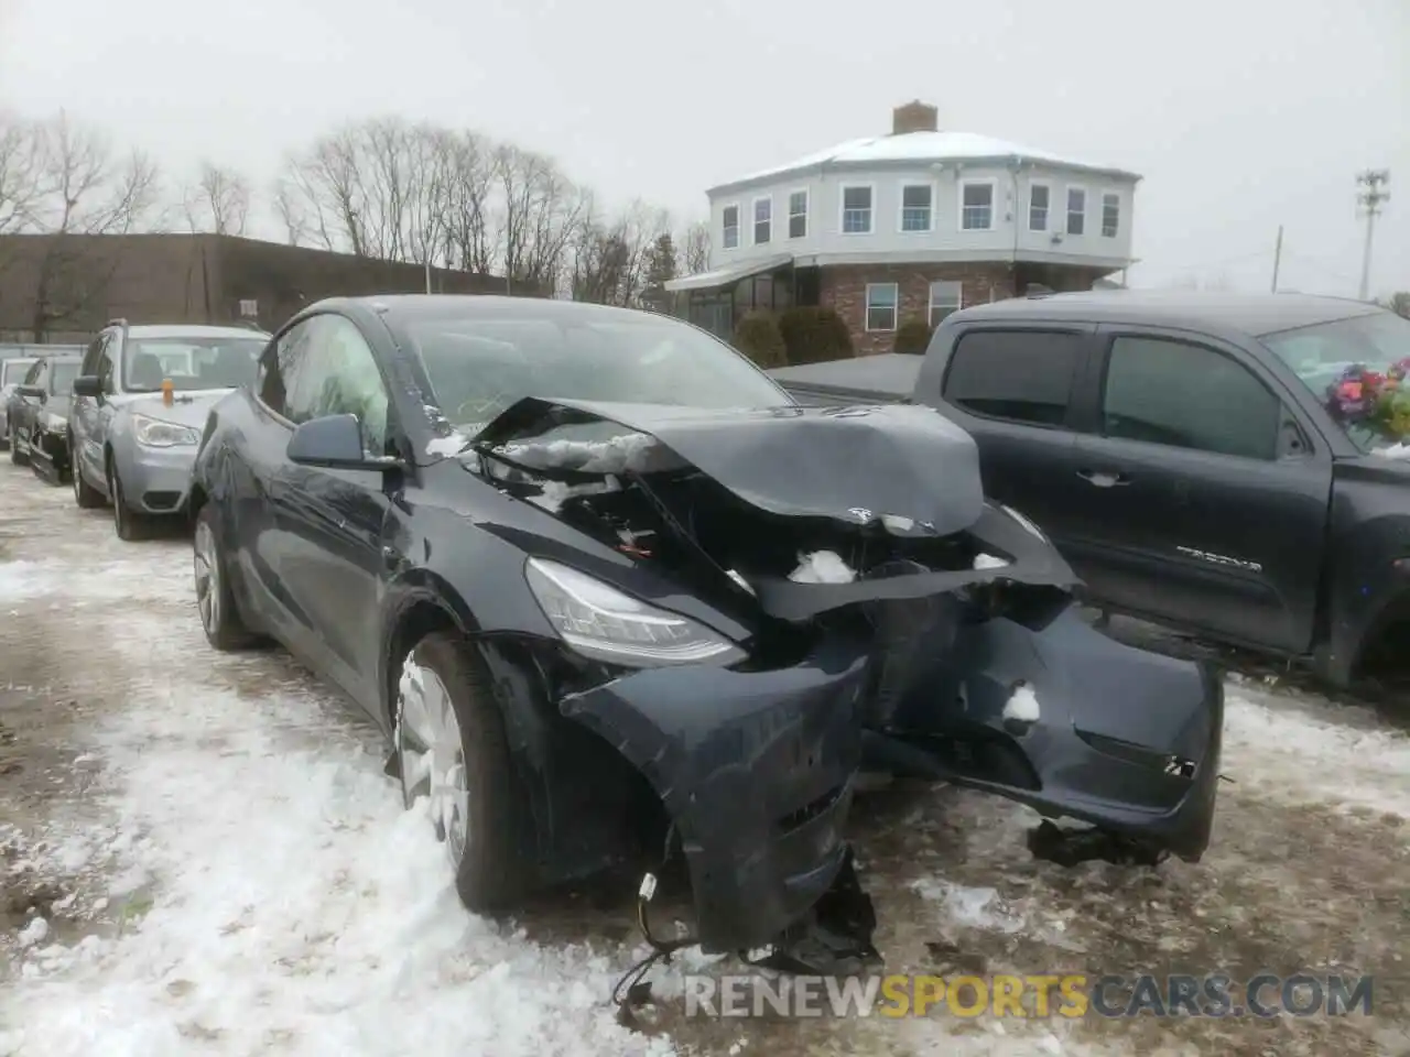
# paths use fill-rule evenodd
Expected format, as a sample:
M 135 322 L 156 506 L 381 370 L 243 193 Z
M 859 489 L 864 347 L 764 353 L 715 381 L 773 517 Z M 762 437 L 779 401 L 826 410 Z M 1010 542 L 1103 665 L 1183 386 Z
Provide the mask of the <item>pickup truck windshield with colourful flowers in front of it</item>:
M 1410 320 L 1390 311 L 1320 323 L 1263 344 L 1292 368 L 1352 443 L 1402 454 L 1410 440 Z

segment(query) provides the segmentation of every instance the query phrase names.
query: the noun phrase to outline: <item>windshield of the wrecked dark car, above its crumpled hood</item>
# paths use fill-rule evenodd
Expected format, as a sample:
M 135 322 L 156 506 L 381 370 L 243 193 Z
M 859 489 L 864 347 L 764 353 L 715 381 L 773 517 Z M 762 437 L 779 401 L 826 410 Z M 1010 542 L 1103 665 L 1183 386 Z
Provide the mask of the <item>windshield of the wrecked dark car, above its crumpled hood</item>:
M 651 313 L 567 306 L 407 324 L 441 414 L 474 434 L 525 396 L 691 407 L 792 400 L 729 345 Z

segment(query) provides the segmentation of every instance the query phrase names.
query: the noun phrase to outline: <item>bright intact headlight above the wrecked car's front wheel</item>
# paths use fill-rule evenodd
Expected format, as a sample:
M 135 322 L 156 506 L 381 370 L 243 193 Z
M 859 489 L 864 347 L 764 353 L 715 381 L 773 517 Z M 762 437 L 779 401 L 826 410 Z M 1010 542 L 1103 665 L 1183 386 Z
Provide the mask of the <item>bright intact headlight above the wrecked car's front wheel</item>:
M 704 624 L 649 606 L 567 565 L 530 558 L 525 578 L 563 641 L 585 657 L 633 668 L 732 664 L 744 657 Z

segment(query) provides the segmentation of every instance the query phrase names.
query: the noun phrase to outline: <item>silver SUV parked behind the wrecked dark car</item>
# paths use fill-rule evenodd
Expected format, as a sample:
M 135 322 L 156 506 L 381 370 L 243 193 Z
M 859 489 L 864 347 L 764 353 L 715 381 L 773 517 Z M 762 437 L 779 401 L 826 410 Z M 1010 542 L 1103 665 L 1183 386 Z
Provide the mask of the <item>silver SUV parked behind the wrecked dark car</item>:
M 79 506 L 113 505 L 118 537 L 183 514 L 190 468 L 212 406 L 254 381 L 264 331 L 128 326 L 113 320 L 73 382 L 69 451 Z

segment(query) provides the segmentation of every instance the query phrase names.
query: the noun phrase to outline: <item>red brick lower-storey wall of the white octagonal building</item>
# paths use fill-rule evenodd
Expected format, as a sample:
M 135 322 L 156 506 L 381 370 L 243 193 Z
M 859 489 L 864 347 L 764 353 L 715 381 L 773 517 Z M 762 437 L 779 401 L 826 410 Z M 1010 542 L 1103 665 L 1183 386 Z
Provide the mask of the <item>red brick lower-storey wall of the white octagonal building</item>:
M 897 285 L 897 323 L 901 324 L 926 319 L 931 283 L 940 280 L 963 283 L 962 303 L 966 306 L 1014 296 L 1007 264 L 828 265 L 822 269 L 822 303 L 846 321 L 859 357 L 891 352 L 894 333 L 867 333 L 867 283 Z

